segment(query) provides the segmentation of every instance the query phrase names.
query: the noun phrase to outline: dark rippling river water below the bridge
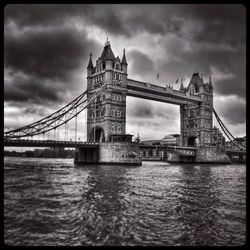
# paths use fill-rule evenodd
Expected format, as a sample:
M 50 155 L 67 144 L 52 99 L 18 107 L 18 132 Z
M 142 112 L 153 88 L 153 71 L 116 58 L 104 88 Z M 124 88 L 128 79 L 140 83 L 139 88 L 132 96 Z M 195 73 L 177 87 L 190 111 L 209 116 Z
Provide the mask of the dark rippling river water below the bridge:
M 246 165 L 5 158 L 7 245 L 242 245 Z

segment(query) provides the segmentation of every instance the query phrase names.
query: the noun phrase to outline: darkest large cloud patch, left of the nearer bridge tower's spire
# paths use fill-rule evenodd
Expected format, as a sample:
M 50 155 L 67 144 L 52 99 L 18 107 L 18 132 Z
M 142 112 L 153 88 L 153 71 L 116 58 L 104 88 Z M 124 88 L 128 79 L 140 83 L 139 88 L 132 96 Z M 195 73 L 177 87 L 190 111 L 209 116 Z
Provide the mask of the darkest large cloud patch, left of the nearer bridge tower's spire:
M 83 66 L 90 42 L 70 28 L 31 29 L 4 39 L 6 67 L 39 78 L 69 80 L 70 72 Z

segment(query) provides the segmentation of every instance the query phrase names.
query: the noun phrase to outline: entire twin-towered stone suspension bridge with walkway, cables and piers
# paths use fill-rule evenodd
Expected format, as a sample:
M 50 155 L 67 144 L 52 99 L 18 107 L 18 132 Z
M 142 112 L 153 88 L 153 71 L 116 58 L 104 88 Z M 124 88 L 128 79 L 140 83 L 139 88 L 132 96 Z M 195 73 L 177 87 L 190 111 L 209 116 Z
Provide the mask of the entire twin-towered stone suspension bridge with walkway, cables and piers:
M 213 107 L 211 78 L 204 82 L 198 72 L 193 73 L 187 87 L 174 90 L 149 82 L 129 79 L 125 49 L 122 60 L 115 57 L 110 42 L 93 65 L 90 54 L 87 66 L 87 90 L 53 114 L 24 127 L 6 131 L 4 146 L 73 147 L 76 163 L 122 163 L 140 165 L 140 150 L 145 146 L 132 141 L 126 134 L 126 97 L 170 103 L 180 107 L 181 145 L 165 147 L 176 162 L 230 162 L 222 132 L 213 127 L 215 115 L 223 133 L 244 155 L 246 147 L 235 143 L 234 136 L 221 121 Z M 87 140 L 77 141 L 77 116 L 87 111 Z M 68 123 L 75 119 L 75 141 L 67 139 Z M 55 134 L 64 127 L 65 139 L 33 140 L 34 136 Z M 46 136 L 45 136 L 46 137 Z M 160 147 L 158 147 L 159 149 Z M 233 153 L 231 153 L 232 155 Z

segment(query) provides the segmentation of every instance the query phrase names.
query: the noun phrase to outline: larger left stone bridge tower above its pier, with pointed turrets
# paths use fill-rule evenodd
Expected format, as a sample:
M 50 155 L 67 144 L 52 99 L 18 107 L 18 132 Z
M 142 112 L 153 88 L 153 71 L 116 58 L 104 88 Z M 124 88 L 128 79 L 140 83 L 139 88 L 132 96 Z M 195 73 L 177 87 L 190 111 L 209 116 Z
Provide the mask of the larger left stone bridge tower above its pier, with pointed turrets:
M 111 135 L 124 135 L 126 129 L 127 60 L 115 57 L 107 41 L 93 65 L 90 54 L 87 67 L 87 91 L 106 84 L 100 96 L 87 108 L 87 141 L 109 142 Z

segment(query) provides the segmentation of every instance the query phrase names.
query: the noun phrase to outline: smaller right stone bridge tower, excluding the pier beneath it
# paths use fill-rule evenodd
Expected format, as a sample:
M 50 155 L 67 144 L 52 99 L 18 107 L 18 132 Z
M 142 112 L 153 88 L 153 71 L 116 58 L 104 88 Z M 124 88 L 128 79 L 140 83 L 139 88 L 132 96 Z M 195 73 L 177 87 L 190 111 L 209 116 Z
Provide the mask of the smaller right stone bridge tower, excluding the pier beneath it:
M 213 86 L 211 78 L 204 83 L 199 73 L 194 73 L 189 85 L 180 91 L 200 96 L 200 104 L 189 103 L 180 107 L 182 146 L 205 146 L 211 143 L 213 130 Z

